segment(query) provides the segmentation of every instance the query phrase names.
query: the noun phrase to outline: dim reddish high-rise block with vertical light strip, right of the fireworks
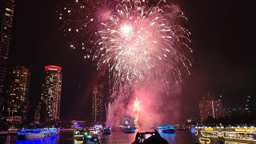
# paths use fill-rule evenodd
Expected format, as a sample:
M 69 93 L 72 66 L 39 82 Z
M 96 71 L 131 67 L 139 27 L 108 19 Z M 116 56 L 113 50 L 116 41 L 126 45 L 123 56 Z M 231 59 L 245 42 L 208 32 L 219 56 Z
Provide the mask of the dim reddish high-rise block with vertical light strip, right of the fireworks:
M 213 118 L 221 118 L 224 116 L 222 100 L 214 98 L 213 96 L 210 96 L 210 94 L 200 98 L 199 110 L 201 121 L 204 121 L 209 116 Z

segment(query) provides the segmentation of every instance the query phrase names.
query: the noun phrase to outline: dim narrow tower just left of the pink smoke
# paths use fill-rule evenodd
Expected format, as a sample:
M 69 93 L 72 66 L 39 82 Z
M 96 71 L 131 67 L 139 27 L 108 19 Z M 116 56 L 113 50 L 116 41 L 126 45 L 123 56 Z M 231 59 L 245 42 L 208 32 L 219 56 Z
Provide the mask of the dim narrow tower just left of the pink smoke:
M 93 109 L 92 118 L 93 118 L 94 124 L 104 121 L 105 105 L 103 102 L 103 99 L 104 99 L 103 91 L 104 91 L 103 84 L 94 86 L 93 98 L 92 98 L 92 109 Z

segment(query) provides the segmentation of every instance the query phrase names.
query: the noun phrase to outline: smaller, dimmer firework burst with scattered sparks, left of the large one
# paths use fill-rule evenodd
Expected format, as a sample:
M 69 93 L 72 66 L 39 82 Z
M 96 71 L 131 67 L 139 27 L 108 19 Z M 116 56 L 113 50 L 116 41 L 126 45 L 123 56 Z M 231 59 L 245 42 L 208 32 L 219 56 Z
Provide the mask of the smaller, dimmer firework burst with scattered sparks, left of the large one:
M 67 1 L 62 10 L 58 10 L 59 20 L 65 35 L 72 38 L 70 47 L 82 47 L 94 43 L 102 22 L 110 20 L 118 0 L 72 0 Z

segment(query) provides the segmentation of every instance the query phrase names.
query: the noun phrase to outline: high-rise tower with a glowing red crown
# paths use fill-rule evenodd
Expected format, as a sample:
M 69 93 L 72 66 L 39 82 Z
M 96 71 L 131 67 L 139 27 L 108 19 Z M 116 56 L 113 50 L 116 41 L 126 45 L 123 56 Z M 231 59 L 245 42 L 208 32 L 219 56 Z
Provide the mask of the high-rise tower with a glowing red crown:
M 62 92 L 62 68 L 46 66 L 46 77 L 42 90 L 42 102 L 46 106 L 45 121 L 58 120 Z

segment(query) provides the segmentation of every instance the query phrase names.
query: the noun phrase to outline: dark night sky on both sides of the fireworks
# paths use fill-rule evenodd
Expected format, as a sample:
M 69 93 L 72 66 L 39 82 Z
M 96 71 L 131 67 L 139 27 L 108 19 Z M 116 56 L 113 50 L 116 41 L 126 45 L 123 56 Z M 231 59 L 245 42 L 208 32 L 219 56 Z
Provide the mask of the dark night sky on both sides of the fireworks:
M 30 99 L 36 103 L 44 82 L 44 66 L 61 66 L 62 118 L 89 119 L 90 89 L 98 72 L 81 51 L 70 48 L 70 39 L 59 30 L 56 3 L 18 1 L 10 67 L 30 68 Z M 222 95 L 225 107 L 239 106 L 248 95 L 255 105 L 254 0 L 194 0 L 178 4 L 190 19 L 187 25 L 194 50 L 190 57 L 191 75 L 183 75 L 181 84 L 184 118 L 198 116 L 198 98 L 207 93 Z

